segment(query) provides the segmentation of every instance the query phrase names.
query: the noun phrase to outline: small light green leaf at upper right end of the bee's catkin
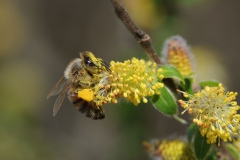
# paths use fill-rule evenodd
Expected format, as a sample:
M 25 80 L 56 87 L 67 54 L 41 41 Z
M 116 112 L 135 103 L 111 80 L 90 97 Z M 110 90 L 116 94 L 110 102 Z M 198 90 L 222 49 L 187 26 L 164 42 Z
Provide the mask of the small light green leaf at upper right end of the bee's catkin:
M 184 82 L 183 77 L 181 73 L 173 66 L 162 66 L 163 72 L 161 74 L 164 75 L 164 78 L 173 78 L 178 79 L 182 82 Z

